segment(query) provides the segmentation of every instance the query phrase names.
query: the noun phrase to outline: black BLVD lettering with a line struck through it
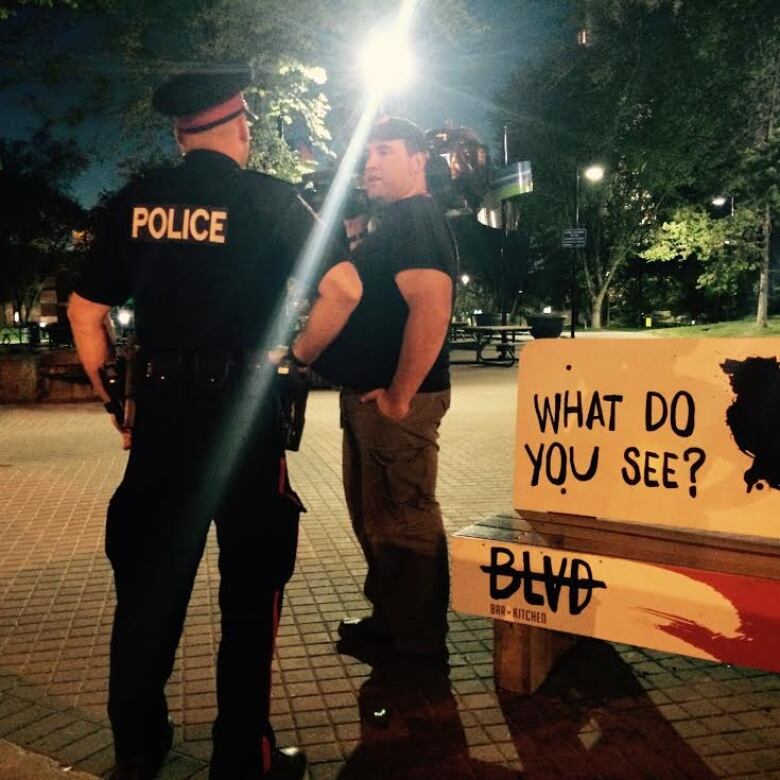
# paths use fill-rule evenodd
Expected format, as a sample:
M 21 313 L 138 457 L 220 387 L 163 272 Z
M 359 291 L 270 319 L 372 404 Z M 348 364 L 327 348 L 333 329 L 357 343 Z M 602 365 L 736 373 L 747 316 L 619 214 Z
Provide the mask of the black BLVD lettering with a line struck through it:
M 490 565 L 479 567 L 490 575 L 490 598 L 508 599 L 523 588 L 523 600 L 536 607 L 548 606 L 558 611 L 561 592 L 568 593 L 570 615 L 579 615 L 590 603 L 596 588 L 607 587 L 602 580 L 593 579 L 593 571 L 587 561 L 561 558 L 558 570 L 553 569 L 549 555 L 542 559 L 542 570 L 535 572 L 531 566 L 531 553 L 523 552 L 522 565 L 515 568 L 515 554 L 506 547 L 490 548 Z M 535 588 L 536 583 L 541 587 Z

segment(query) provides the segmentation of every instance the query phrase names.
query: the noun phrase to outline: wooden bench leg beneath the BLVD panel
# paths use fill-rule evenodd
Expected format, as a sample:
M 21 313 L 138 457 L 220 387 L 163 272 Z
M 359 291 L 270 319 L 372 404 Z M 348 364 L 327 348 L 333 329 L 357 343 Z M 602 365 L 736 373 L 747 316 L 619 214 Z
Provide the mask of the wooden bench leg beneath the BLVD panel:
M 577 640 L 572 634 L 524 623 L 493 621 L 493 676 L 496 686 L 512 693 L 534 693 L 555 662 Z

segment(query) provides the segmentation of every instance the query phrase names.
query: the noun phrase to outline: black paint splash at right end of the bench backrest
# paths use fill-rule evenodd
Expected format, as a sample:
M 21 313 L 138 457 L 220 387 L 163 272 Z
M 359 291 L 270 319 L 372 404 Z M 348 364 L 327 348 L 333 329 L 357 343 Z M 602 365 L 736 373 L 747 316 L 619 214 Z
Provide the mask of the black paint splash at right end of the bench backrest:
M 749 357 L 720 367 L 736 395 L 726 422 L 740 451 L 753 458 L 744 475 L 747 492 L 755 485 L 761 490 L 762 481 L 780 489 L 780 364 L 774 357 Z

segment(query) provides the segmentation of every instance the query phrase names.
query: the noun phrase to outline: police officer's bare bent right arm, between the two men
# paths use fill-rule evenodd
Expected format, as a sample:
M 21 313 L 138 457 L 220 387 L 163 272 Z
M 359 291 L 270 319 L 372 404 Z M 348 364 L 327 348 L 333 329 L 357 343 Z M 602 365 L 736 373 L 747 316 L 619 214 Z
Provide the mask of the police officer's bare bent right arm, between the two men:
M 363 296 L 363 284 L 355 266 L 345 260 L 322 277 L 318 292 L 306 325 L 292 347 L 295 357 L 307 364 L 341 333 Z

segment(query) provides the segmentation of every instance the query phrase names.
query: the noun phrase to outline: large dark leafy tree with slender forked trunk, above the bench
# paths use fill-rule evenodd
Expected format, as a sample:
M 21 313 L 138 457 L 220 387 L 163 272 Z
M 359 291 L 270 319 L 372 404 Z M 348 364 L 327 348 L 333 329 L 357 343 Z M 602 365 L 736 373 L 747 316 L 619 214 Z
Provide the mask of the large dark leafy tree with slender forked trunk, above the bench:
M 544 224 L 550 252 L 574 221 L 575 171 L 605 165 L 603 185 L 583 187 L 580 198 L 589 241 L 579 263 L 598 326 L 620 266 L 671 211 L 709 200 L 737 170 L 750 135 L 754 36 L 774 40 L 766 30 L 776 11 L 764 0 L 591 0 L 570 8 L 571 37 L 519 73 L 503 98 L 507 110 L 522 107 L 510 122 L 515 156 L 534 163 L 527 209 Z M 575 47 L 573 28 L 585 24 L 589 45 Z

